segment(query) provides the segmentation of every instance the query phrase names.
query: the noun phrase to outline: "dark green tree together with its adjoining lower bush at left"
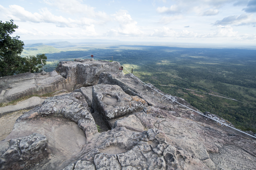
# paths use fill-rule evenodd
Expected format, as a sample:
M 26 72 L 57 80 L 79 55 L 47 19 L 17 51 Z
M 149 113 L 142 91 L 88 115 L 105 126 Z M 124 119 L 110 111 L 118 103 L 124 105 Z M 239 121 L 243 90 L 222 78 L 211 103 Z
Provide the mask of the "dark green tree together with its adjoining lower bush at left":
M 19 40 L 19 36 L 11 37 L 18 26 L 6 21 L 0 21 L 0 76 L 8 76 L 19 73 L 40 71 L 41 59 L 47 59 L 45 54 L 35 56 L 21 57 L 20 54 L 24 49 L 24 43 Z M 46 60 L 42 60 L 46 64 Z

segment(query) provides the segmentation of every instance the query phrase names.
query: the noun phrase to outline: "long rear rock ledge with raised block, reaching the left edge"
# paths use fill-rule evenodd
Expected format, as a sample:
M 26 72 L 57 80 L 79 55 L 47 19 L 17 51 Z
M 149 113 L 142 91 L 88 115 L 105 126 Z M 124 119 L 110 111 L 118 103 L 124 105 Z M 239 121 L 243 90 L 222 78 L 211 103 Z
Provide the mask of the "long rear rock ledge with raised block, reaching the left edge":
M 119 62 L 62 61 L 56 71 L 46 75 L 40 73 L 22 73 L 0 78 L 0 102 L 16 100 L 27 95 L 42 95 L 57 90 L 73 89 L 98 84 L 101 72 L 117 72 Z

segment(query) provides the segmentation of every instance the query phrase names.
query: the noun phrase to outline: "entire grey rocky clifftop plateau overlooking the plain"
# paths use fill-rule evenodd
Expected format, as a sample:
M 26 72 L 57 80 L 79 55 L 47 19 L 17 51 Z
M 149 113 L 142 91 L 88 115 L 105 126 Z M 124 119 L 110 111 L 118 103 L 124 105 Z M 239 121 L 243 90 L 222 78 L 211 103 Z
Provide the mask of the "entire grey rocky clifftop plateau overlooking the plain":
M 119 77 L 119 66 L 77 59 L 46 75 L 1 77 L 0 102 L 66 93 L 20 103 L 29 111 L 0 142 L 0 169 L 255 169 L 255 138 L 133 74 Z

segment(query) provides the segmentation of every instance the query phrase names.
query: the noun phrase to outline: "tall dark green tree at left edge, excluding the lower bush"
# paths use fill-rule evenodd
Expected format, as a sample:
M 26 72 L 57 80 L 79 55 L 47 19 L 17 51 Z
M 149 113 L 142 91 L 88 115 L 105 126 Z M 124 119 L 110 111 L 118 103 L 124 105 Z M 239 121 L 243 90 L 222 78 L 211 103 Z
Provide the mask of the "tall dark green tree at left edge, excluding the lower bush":
M 0 21 L 0 76 L 18 74 L 24 65 L 24 59 L 19 56 L 24 43 L 19 36 L 10 36 L 17 28 L 13 20 Z

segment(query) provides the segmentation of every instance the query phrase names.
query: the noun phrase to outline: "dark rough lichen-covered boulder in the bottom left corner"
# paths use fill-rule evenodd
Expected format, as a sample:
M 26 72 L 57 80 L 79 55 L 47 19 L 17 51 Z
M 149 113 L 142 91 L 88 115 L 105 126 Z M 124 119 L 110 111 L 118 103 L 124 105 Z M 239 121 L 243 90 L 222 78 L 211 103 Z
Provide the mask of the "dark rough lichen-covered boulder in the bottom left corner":
M 49 156 L 48 139 L 32 135 L 0 142 L 0 169 L 29 169 Z

